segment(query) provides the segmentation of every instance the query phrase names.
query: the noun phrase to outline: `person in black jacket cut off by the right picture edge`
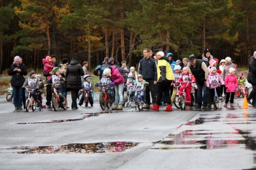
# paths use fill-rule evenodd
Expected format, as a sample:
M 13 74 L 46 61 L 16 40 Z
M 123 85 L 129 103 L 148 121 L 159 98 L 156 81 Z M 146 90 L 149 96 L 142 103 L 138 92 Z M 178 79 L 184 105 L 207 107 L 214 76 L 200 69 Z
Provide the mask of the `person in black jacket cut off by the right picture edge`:
M 249 62 L 249 72 L 247 75 L 247 80 L 252 84 L 253 90 L 250 92 L 249 96 L 247 96 L 247 102 L 253 107 L 256 107 L 256 51 L 254 51 L 253 56 L 250 57 Z M 253 102 L 250 100 L 252 99 Z

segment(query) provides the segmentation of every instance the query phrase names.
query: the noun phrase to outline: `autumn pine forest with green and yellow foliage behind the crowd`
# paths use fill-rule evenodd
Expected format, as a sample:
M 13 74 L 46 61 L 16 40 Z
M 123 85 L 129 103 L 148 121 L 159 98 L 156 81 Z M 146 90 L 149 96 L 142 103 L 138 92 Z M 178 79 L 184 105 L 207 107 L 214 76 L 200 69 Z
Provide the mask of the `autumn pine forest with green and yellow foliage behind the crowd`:
M 76 56 L 89 71 L 105 57 L 136 66 L 143 48 L 174 60 L 205 48 L 247 67 L 256 51 L 256 0 L 1 0 L 0 74 L 13 58 L 42 69 L 42 59 Z

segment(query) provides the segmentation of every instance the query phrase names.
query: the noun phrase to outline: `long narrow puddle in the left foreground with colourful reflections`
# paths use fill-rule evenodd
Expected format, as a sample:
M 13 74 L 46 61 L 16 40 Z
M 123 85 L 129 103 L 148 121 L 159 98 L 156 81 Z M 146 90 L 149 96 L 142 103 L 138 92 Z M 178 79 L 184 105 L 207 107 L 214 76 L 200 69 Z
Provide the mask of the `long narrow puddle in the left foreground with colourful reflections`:
M 12 147 L 0 149 L 0 153 L 8 153 L 9 150 L 16 150 L 12 153 L 117 153 L 137 146 L 139 143 L 133 142 L 102 142 L 90 144 L 65 144 L 58 146 L 38 146 L 38 147 Z

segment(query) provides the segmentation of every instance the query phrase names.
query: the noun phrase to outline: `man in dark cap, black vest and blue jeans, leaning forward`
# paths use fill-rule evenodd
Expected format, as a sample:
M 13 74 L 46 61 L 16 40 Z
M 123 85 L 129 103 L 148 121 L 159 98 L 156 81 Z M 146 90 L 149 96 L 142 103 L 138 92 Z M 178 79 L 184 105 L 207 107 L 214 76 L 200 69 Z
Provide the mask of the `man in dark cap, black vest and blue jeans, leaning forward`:
M 209 94 L 209 88 L 206 86 L 206 80 L 209 75 L 209 71 L 205 62 L 202 59 L 196 59 L 194 55 L 189 56 L 190 66 L 189 69 L 195 77 L 196 85 L 198 86 L 197 104 L 196 109 L 207 108 L 207 99 Z M 203 94 L 204 91 L 204 94 Z

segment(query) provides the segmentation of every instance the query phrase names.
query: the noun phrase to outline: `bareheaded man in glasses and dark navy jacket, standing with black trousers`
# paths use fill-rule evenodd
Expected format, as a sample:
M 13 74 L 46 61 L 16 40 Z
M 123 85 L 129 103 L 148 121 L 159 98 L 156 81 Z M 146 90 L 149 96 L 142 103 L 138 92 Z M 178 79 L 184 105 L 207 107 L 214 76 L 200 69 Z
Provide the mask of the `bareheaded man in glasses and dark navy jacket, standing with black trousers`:
M 144 58 L 139 62 L 139 74 L 143 76 L 146 82 L 149 83 L 145 90 L 145 108 L 150 108 L 150 93 L 152 103 L 155 104 L 157 100 L 156 96 L 156 84 L 157 84 L 157 62 L 150 57 L 150 49 L 145 48 L 143 50 Z

